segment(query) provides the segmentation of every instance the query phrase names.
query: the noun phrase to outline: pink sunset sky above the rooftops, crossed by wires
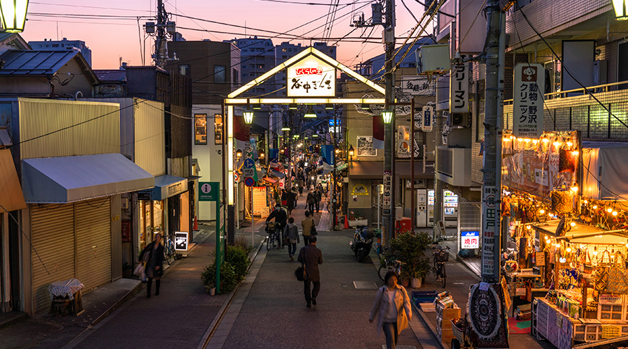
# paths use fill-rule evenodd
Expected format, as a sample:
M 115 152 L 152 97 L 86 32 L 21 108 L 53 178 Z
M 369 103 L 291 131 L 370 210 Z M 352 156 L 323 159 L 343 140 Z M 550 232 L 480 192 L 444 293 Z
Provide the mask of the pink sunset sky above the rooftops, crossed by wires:
M 287 1 L 287 2 L 281 2 Z M 404 0 L 414 16 L 423 15 L 423 6 L 414 0 Z M 423 1 L 421 1 L 423 2 Z M 301 24 L 322 17 L 320 20 L 290 31 L 290 34 L 304 36 L 306 39 L 296 38 L 292 43 L 309 45 L 310 38 L 322 41 L 324 24 L 330 6 L 306 5 L 301 3 L 336 3 L 336 0 L 164 0 L 167 12 L 202 20 L 211 20 L 226 24 L 246 26 L 244 28 L 231 27 L 223 24 L 190 20 L 185 17 L 172 16 L 177 22 L 177 30 L 186 40 L 213 41 L 243 38 L 246 36 L 258 37 L 276 36 L 255 29 L 264 29 L 284 33 Z M 336 20 L 331 29 L 329 44 L 336 43 L 338 38 L 347 36 L 347 39 L 337 43 L 337 58 L 347 66 L 354 66 L 360 61 L 384 52 L 382 27 L 355 29 L 350 27 L 354 17 L 364 13 L 368 20 L 371 17 L 371 3 L 366 0 L 338 0 Z M 352 5 L 347 6 L 347 4 Z M 142 45 L 146 45 L 146 64 L 151 64 L 150 54 L 154 40 L 144 34 L 142 24 L 154 22 L 149 17 L 155 15 L 156 0 L 107 0 L 107 1 L 79 1 L 79 0 L 38 0 L 29 2 L 29 21 L 22 36 L 26 40 L 84 40 L 91 49 L 92 66 L 96 69 L 115 69 L 119 67 L 119 59 L 132 66 L 142 65 Z M 140 18 L 141 34 L 138 30 L 137 16 Z M 145 17 L 144 17 L 145 16 Z M 396 1 L 396 36 L 408 35 L 416 21 L 408 10 L 403 7 L 401 0 Z M 320 27 L 319 29 L 315 29 Z M 189 29 L 184 29 L 189 28 Z M 315 29 L 315 30 L 313 30 Z M 353 30 L 353 31 L 352 31 Z M 431 27 L 428 29 L 431 33 Z M 210 32 L 211 31 L 211 32 Z M 308 32 L 309 31 L 309 32 Z M 352 32 L 351 32 L 352 31 Z M 228 32 L 218 33 L 218 32 Z M 347 35 L 348 34 L 348 35 Z M 370 43 L 363 43 L 360 38 L 367 38 L 370 34 Z M 141 35 L 141 38 L 140 38 Z M 288 35 L 290 36 L 290 35 Z M 272 38 L 274 45 L 290 40 L 292 37 L 282 36 Z M 145 40 L 144 40 L 145 38 Z M 317 38 L 317 39 L 316 39 Z M 349 42 L 352 40 L 353 42 Z M 397 40 L 398 45 L 403 39 Z

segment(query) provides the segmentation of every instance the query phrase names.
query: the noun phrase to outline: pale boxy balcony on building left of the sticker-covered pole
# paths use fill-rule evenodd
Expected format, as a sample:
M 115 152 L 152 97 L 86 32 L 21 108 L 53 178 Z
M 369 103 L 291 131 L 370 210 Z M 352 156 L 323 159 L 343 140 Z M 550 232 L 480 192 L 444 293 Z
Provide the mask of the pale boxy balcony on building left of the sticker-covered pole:
M 436 178 L 452 186 L 471 186 L 471 148 L 436 148 Z

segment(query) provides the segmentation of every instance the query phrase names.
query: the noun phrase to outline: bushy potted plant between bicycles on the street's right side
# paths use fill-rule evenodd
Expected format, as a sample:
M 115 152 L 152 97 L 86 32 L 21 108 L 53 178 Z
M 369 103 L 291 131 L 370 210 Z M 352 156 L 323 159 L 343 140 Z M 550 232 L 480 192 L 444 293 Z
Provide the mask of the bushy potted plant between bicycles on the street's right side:
M 421 287 L 421 279 L 424 278 L 430 269 L 429 259 L 425 257 L 425 251 L 431 244 L 431 237 L 426 232 L 401 232 L 397 237 L 390 240 L 398 260 L 404 262 L 401 267 L 400 279 L 402 281 L 414 280 L 412 287 Z

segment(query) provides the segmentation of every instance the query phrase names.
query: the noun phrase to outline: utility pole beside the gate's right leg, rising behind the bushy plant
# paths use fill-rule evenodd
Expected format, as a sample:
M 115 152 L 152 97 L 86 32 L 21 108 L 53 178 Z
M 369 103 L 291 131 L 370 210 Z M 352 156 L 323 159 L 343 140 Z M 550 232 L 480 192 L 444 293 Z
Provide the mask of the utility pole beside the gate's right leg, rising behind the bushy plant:
M 391 107 L 388 103 L 395 103 L 395 73 L 393 71 L 394 59 L 393 53 L 395 50 L 395 1 L 387 0 L 386 1 L 386 24 L 384 27 L 384 43 L 386 48 L 386 66 L 385 66 L 385 91 L 386 96 L 384 96 L 387 105 L 386 107 L 391 108 L 393 112 L 393 117 L 390 121 L 390 124 L 384 124 L 384 195 L 389 193 L 390 195 L 390 206 L 384 206 L 384 229 L 385 229 L 385 245 L 387 248 L 390 247 L 389 242 L 391 238 L 395 237 L 395 192 L 396 187 L 398 186 L 396 180 L 395 173 L 395 155 L 396 155 L 396 144 L 395 144 L 395 107 Z M 412 117 L 411 117 L 412 118 Z M 414 151 L 414 149 L 412 149 Z M 391 185 L 390 188 L 386 188 L 386 180 L 385 178 L 391 176 Z

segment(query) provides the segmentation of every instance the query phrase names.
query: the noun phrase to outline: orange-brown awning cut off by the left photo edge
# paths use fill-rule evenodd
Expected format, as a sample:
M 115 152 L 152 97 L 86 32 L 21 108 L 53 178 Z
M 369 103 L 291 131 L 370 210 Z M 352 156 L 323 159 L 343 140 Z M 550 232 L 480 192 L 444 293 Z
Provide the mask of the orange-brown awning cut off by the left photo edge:
M 0 149 L 0 205 L 7 211 L 25 209 L 24 194 L 9 149 Z M 0 213 L 3 213 L 0 209 Z

